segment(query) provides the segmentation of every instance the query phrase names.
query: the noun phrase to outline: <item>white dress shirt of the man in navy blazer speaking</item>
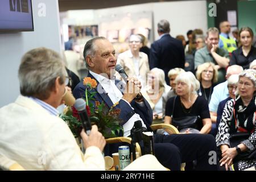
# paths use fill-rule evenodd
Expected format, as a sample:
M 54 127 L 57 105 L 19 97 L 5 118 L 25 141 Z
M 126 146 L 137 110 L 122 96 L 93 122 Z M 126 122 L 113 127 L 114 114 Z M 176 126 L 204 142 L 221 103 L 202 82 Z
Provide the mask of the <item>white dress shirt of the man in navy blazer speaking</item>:
M 92 76 L 94 78 L 96 78 L 96 80 L 98 80 L 98 82 L 100 82 L 101 86 L 104 88 L 105 92 L 108 94 L 110 100 L 113 102 L 113 104 L 115 104 L 116 102 L 119 102 L 122 97 L 123 94 L 122 92 L 117 88 L 117 86 L 115 85 L 115 80 L 110 80 L 104 76 L 98 75 L 97 73 L 94 73 L 92 71 L 89 71 L 90 74 L 92 74 Z M 99 89 L 99 88 L 98 88 Z M 123 100 L 123 99 L 122 99 Z M 127 102 L 126 100 L 123 100 L 125 102 Z M 130 105 L 129 102 L 127 102 L 127 104 Z M 130 105 L 131 107 L 131 105 Z M 133 110 L 134 108 L 131 107 Z M 123 131 L 124 137 L 128 137 L 129 135 L 131 135 L 131 129 L 134 126 L 134 122 L 135 121 L 141 121 L 142 123 L 142 127 L 146 127 L 146 125 L 144 124 L 144 122 L 142 121 L 142 118 L 139 116 L 139 114 L 135 113 L 124 125 L 123 125 Z

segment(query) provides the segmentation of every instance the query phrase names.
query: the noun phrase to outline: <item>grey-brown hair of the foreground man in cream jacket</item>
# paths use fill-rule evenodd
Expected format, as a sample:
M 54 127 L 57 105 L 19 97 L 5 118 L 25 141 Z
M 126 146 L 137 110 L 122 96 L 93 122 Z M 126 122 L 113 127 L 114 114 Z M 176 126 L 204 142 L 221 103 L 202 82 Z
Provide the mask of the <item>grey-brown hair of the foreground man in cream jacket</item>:
M 44 47 L 28 51 L 19 65 L 20 93 L 46 100 L 60 77 L 64 83 L 67 72 L 59 53 Z

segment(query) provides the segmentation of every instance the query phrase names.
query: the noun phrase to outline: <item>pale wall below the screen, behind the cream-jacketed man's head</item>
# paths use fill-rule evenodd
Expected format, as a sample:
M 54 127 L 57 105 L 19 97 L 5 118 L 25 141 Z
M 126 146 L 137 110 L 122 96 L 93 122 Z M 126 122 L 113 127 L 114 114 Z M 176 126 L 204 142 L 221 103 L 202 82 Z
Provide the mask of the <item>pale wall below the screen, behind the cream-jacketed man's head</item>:
M 46 6 L 46 16 L 39 17 L 39 3 Z M 57 0 L 33 0 L 34 32 L 0 34 L 0 107 L 19 95 L 18 67 L 22 55 L 32 48 L 47 47 L 61 51 L 59 5 Z

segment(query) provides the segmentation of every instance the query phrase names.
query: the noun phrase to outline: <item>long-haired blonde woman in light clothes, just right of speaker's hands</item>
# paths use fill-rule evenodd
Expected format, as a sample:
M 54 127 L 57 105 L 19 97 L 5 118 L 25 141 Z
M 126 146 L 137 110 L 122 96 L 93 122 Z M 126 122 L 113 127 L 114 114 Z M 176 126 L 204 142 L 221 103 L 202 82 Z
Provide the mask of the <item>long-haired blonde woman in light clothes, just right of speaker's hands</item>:
M 163 117 L 163 94 L 167 94 L 171 87 L 164 80 L 164 71 L 159 68 L 151 69 L 147 78 L 147 86 L 142 95 L 151 106 L 154 120 L 162 121 Z

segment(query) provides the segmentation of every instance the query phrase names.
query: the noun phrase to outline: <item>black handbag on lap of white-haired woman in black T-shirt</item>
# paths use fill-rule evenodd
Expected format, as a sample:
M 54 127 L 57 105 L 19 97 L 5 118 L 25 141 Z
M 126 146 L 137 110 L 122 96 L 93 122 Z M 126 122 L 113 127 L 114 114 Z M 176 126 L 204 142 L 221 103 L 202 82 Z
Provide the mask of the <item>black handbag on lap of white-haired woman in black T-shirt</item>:
M 176 101 L 176 97 L 174 98 L 174 106 L 175 106 L 175 101 Z M 174 106 L 172 108 L 172 115 L 174 114 Z M 180 117 L 180 118 L 173 118 L 172 117 L 172 125 L 174 125 L 177 130 L 182 130 L 182 129 L 186 129 L 186 128 L 193 128 L 193 129 L 197 129 L 199 130 L 199 121 L 201 121 L 200 116 L 186 116 L 186 117 Z

